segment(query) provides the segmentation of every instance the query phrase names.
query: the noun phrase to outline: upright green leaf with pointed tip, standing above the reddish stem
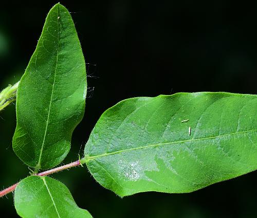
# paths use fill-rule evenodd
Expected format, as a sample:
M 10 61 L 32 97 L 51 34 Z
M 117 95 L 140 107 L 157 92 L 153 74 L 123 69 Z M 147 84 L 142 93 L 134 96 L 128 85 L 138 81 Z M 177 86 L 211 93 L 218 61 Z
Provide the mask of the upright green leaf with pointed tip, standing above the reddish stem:
M 84 114 L 85 61 L 67 9 L 55 5 L 17 90 L 13 150 L 27 165 L 47 169 L 68 154 Z

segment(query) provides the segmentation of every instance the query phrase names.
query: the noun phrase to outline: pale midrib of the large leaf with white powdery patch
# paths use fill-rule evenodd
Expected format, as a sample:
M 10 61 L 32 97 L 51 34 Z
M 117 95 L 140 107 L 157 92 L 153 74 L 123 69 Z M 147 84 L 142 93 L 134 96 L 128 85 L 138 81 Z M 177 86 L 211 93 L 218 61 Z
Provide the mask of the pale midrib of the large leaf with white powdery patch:
M 195 138 L 195 139 L 172 141 L 172 142 L 165 142 L 165 143 L 158 143 L 158 144 L 148 144 L 147 146 L 140 146 L 140 147 L 137 147 L 137 148 L 124 149 L 124 150 L 110 152 L 110 153 L 103 153 L 103 154 L 99 154 L 99 155 L 95 155 L 95 156 L 85 156 L 83 159 L 81 159 L 81 163 L 89 162 L 90 160 L 94 160 L 94 159 L 99 158 L 99 157 L 105 157 L 105 156 L 109 156 L 109 155 L 115 155 L 115 154 L 120 154 L 120 153 L 124 153 L 124 152 L 129 152 L 129 151 L 135 151 L 135 150 L 140 150 L 140 149 L 147 149 L 147 148 L 158 147 L 158 146 L 165 146 L 165 145 L 168 145 L 168 144 L 176 144 L 176 143 L 184 143 L 184 142 L 192 142 L 192 141 L 201 141 L 201 140 L 215 139 L 215 138 L 218 138 L 218 137 L 225 137 L 225 136 L 231 136 L 231 135 L 239 135 L 239 134 L 245 134 L 245 133 L 250 133 L 250 132 L 257 132 L 257 130 L 248 130 L 248 131 L 242 131 L 242 132 L 228 133 L 228 134 L 217 135 L 217 136 L 210 136 L 210 137 L 205 137 L 205 138 Z

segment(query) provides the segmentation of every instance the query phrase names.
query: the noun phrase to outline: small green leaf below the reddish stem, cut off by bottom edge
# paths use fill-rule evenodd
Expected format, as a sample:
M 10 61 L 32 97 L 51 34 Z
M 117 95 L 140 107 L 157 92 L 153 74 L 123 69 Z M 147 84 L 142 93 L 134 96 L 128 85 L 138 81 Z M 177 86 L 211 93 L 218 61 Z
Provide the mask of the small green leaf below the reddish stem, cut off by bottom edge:
M 14 192 L 14 205 L 24 218 L 92 217 L 77 206 L 64 184 L 50 177 L 29 176 L 20 181 Z

